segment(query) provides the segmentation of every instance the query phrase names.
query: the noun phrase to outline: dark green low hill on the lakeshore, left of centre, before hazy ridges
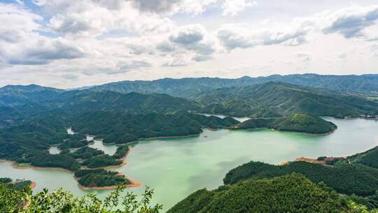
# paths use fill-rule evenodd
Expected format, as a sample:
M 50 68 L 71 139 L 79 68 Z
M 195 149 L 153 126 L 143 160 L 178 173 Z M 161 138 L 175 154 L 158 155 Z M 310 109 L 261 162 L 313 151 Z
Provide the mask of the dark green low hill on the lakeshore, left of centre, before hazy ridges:
M 233 118 L 202 116 L 187 111 L 137 115 L 97 111 L 75 116 L 71 123 L 73 130 L 80 134 L 96 135 L 104 139 L 104 143 L 123 144 L 151 137 L 198 135 L 202 128 L 229 128 L 239 122 Z

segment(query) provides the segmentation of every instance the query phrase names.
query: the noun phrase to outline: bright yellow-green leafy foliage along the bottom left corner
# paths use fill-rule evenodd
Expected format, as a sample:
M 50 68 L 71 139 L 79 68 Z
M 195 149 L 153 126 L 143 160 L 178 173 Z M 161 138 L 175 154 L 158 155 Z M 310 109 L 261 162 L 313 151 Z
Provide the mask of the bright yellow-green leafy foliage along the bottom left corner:
M 15 190 L 8 188 L 6 184 L 0 184 L 0 212 L 158 213 L 162 209 L 161 205 L 150 205 L 153 195 L 150 188 L 146 187 L 141 200 L 137 200 L 137 195 L 130 192 L 122 196 L 124 190 L 125 187 L 120 185 L 104 200 L 100 200 L 92 194 L 76 198 L 62 189 L 52 192 L 44 189 L 32 195 L 28 187 Z

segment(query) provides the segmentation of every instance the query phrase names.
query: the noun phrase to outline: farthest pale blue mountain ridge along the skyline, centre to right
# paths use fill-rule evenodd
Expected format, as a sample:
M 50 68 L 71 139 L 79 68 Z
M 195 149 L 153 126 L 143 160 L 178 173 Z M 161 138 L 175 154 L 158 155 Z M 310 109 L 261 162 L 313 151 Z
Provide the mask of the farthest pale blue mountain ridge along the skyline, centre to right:
M 281 81 L 293 83 L 295 85 L 307 85 L 314 88 L 325 88 L 329 90 L 339 90 L 342 92 L 378 92 L 378 75 L 318 75 L 318 74 L 292 74 L 292 75 L 272 75 L 266 77 L 242 78 L 163 78 L 155 81 L 119 81 L 94 85 L 89 90 L 112 90 L 116 92 L 140 92 L 140 93 L 166 93 L 168 95 L 189 97 L 199 92 L 214 90 L 217 88 L 242 87 L 267 83 L 269 81 Z

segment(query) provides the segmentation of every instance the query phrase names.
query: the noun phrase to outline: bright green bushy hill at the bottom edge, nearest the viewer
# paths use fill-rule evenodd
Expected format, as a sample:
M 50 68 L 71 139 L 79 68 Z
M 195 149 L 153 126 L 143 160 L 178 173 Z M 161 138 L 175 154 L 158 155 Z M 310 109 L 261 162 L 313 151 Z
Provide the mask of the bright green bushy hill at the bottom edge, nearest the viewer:
M 344 198 L 329 188 L 314 184 L 301 174 L 273 179 L 249 179 L 202 189 L 177 203 L 167 213 L 252 212 L 347 212 Z

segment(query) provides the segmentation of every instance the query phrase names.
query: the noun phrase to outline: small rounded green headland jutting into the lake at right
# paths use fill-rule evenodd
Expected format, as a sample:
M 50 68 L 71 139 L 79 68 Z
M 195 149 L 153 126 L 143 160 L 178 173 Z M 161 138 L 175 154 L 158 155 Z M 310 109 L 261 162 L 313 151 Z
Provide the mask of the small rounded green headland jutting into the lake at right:
M 283 118 L 252 118 L 232 130 L 273 129 L 287 132 L 300 132 L 314 135 L 327 135 L 336 130 L 337 126 L 317 116 L 293 114 Z

